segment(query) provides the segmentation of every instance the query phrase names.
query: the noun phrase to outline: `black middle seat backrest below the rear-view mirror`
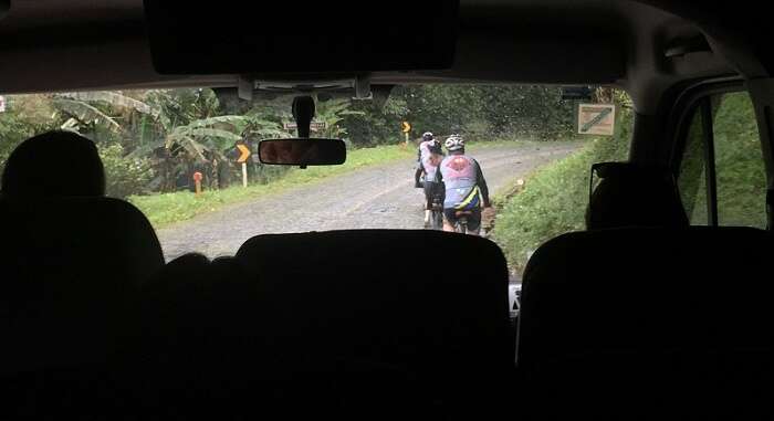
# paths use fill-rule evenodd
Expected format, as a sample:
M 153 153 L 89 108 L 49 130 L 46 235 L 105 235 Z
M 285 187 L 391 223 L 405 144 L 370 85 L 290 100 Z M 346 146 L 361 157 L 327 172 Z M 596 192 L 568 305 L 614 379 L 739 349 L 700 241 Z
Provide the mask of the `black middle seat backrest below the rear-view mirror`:
M 381 365 L 442 381 L 504 375 L 513 364 L 508 269 L 488 240 L 398 230 L 259 235 L 237 259 L 261 285 L 269 366 Z

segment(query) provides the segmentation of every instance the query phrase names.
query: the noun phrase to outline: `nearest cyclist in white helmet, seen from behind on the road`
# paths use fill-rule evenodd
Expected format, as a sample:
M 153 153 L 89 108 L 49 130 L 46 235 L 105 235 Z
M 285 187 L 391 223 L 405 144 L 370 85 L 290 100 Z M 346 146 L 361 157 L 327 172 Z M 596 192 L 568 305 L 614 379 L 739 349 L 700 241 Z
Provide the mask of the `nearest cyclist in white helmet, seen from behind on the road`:
M 481 208 L 491 206 L 487 180 L 479 162 L 464 155 L 462 136 L 451 135 L 444 145 L 449 155 L 443 158 L 436 171 L 436 181 L 446 183 L 443 231 L 453 232 L 460 212 L 466 212 L 468 232 L 478 235 L 481 230 Z

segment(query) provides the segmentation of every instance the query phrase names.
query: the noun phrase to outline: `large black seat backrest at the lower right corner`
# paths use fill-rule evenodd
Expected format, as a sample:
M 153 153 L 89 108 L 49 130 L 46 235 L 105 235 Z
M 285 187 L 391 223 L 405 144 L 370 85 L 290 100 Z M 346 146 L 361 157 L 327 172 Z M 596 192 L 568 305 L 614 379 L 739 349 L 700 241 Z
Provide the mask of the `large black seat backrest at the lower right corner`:
M 762 410 L 762 390 L 772 391 L 762 380 L 774 373 L 773 251 L 770 233 L 746 228 L 547 242 L 523 278 L 516 362 L 526 400 L 557 417 Z

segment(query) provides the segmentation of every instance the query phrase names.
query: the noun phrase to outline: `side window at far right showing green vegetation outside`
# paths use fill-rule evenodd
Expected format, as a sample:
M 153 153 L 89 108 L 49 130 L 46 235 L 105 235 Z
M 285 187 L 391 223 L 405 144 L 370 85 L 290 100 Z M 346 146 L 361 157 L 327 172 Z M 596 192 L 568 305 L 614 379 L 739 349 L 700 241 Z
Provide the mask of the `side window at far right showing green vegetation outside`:
M 750 95 L 707 97 L 690 118 L 678 185 L 691 224 L 765 228 L 766 176 Z

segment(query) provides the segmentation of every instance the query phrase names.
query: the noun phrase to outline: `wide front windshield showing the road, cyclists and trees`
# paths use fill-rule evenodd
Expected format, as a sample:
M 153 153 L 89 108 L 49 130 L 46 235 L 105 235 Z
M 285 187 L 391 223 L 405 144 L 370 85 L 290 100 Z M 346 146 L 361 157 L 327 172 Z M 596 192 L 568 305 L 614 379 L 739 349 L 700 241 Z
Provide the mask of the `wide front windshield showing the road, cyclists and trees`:
M 4 96 L 0 164 L 48 130 L 92 139 L 107 194 L 145 213 L 168 261 L 233 255 L 265 233 L 453 223 L 495 241 L 517 278 L 541 243 L 584 229 L 590 165 L 628 157 L 631 103 L 610 87 L 409 85 L 386 101 L 312 97 L 311 136 L 343 139 L 344 165 L 262 164 L 261 139 L 296 136 L 293 96 L 248 102 L 207 87 Z

